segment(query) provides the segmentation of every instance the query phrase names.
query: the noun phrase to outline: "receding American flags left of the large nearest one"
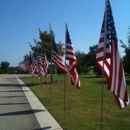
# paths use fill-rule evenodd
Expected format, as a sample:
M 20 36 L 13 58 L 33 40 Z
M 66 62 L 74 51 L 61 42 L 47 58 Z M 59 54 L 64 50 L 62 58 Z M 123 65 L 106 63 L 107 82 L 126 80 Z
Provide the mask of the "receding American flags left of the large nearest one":
M 69 69 L 64 62 L 57 45 L 55 43 L 55 38 L 52 36 L 52 58 L 51 61 L 66 75 L 71 79 L 72 85 L 77 88 L 81 88 L 80 80 L 78 77 L 78 72 L 76 70 L 77 60 L 74 53 L 74 49 L 69 36 L 68 27 L 66 25 L 66 60 L 69 61 Z M 19 63 L 19 68 L 24 71 L 28 71 L 32 76 L 38 73 L 39 79 L 44 75 L 45 82 L 48 82 L 48 60 L 45 53 L 43 44 L 37 45 L 38 52 L 29 52 L 29 55 L 24 57 L 24 61 Z

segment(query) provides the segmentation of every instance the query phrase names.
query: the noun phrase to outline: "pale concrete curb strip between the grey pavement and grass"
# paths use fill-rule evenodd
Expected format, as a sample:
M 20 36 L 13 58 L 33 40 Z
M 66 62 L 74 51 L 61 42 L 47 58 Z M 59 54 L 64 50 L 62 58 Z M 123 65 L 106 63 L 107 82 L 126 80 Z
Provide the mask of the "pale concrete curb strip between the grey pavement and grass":
M 38 98 L 32 93 L 32 91 L 20 80 L 17 79 L 21 85 L 24 94 L 39 122 L 40 127 L 43 130 L 63 130 L 56 120 L 51 116 L 47 109 L 42 105 Z M 35 110 L 40 110 L 38 113 Z M 42 111 L 41 111 L 42 110 Z

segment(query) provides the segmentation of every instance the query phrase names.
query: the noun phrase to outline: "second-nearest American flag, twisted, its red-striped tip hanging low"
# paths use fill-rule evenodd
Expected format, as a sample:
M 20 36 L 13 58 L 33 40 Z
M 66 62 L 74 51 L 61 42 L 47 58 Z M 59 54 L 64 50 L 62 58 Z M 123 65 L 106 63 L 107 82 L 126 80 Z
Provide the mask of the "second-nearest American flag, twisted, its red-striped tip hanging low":
M 74 49 L 69 36 L 68 28 L 66 25 L 66 60 L 69 60 L 69 71 L 71 74 L 71 83 L 77 88 L 81 88 L 80 79 L 78 77 L 78 72 L 76 70 L 77 60 L 74 53 Z

